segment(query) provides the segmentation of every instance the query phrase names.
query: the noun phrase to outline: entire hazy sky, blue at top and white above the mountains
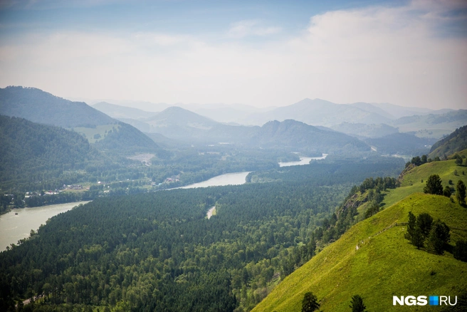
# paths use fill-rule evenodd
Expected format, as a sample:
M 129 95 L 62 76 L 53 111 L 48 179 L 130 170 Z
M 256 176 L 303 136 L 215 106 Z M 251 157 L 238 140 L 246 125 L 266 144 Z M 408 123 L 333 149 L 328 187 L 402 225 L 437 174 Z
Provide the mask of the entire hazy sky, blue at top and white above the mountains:
M 0 0 L 0 87 L 467 109 L 467 1 Z

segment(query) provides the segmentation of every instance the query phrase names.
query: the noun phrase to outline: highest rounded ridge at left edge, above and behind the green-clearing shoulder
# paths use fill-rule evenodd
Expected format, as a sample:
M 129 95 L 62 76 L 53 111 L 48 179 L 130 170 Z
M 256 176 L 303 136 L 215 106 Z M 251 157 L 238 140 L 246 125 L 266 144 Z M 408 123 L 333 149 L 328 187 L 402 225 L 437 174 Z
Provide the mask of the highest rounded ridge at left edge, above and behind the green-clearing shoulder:
M 58 98 L 36 88 L 0 88 L 0 114 L 63 128 L 115 123 L 86 103 Z

